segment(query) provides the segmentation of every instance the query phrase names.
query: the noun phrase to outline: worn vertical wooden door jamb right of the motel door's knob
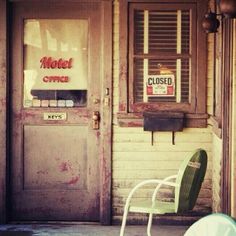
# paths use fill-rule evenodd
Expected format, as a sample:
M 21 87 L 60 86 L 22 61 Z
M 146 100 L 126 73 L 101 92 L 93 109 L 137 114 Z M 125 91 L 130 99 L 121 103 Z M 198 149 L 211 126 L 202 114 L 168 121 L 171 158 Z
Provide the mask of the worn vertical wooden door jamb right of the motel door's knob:
M 100 222 L 111 224 L 111 147 L 112 147 L 112 1 L 102 2 L 102 150 Z M 109 94 L 107 94 L 107 89 Z M 109 99 L 108 104 L 105 99 Z

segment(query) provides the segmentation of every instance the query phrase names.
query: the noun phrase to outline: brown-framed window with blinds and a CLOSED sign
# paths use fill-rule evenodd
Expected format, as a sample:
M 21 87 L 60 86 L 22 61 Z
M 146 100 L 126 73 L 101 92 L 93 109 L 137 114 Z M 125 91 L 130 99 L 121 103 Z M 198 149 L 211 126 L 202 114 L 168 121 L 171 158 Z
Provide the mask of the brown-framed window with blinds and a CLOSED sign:
M 119 117 L 177 111 L 206 125 L 206 11 L 205 1 L 120 1 Z

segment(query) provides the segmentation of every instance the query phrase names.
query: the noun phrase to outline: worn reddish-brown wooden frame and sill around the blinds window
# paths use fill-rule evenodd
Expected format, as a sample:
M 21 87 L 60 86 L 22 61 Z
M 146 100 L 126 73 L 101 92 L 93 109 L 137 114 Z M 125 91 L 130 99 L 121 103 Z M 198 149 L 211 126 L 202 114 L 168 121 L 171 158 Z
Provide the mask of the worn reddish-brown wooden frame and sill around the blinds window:
M 186 117 L 186 126 L 188 127 L 206 127 L 206 121 L 208 115 L 206 114 L 206 84 L 207 84 L 207 67 L 206 67 L 206 55 L 207 55 L 207 36 L 201 27 L 201 21 L 207 12 L 207 2 L 204 0 L 172 0 L 171 3 L 178 6 L 178 3 L 185 3 L 195 6 L 196 8 L 196 70 L 192 73 L 195 74 L 195 78 L 191 79 L 191 104 L 184 103 L 170 103 L 170 102 L 158 102 L 158 103 L 139 103 L 133 102 L 133 81 L 132 70 L 133 66 L 130 64 L 130 45 L 132 38 L 130 38 L 129 28 L 132 29 L 130 24 L 130 8 L 131 5 L 137 6 L 147 5 L 150 7 L 153 4 L 170 5 L 170 1 L 167 0 L 120 0 L 119 1 L 119 48 L 120 48 L 120 80 L 119 80 L 119 112 L 118 121 L 122 126 L 142 126 L 142 122 L 138 119 L 142 118 L 142 112 L 146 110 L 151 111 L 175 111 L 183 112 Z M 171 6 L 171 5 L 170 5 Z M 173 8 L 173 7 L 172 7 Z M 122 13 L 122 14 L 121 14 Z M 192 36 L 191 36 L 192 37 Z M 194 45 L 192 45 L 194 47 Z M 133 59 L 132 59 L 133 60 Z M 191 63 L 192 64 L 192 63 Z M 130 78 L 130 76 L 132 78 Z M 201 86 L 200 86 L 201 85 Z M 136 119 L 135 122 L 130 122 L 131 119 Z

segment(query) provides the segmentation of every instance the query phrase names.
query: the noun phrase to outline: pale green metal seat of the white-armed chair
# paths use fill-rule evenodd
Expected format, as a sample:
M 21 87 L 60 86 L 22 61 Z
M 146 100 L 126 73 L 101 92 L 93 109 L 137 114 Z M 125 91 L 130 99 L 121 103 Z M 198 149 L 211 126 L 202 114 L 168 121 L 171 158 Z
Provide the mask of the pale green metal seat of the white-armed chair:
M 175 213 L 175 203 L 156 201 L 155 205 L 152 206 L 151 200 L 134 202 L 130 204 L 129 211 L 153 214 Z

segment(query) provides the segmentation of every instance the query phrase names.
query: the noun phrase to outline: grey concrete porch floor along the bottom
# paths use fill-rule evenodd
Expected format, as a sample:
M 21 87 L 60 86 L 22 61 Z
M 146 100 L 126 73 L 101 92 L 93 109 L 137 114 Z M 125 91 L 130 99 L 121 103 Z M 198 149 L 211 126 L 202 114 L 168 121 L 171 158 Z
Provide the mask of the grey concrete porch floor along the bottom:
M 152 236 L 183 236 L 188 226 L 152 227 Z M 119 236 L 119 226 L 100 225 L 0 225 L 0 236 Z M 125 236 L 146 236 L 145 226 L 127 226 Z

